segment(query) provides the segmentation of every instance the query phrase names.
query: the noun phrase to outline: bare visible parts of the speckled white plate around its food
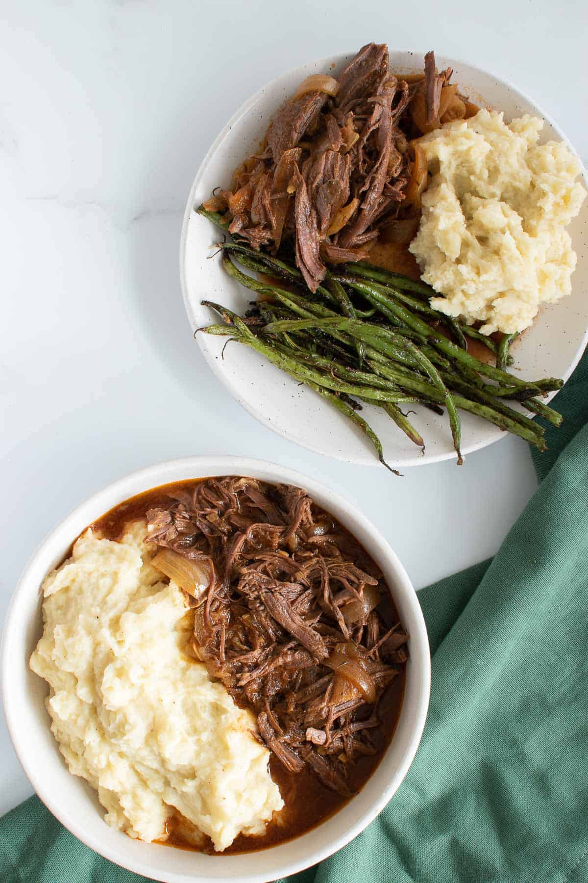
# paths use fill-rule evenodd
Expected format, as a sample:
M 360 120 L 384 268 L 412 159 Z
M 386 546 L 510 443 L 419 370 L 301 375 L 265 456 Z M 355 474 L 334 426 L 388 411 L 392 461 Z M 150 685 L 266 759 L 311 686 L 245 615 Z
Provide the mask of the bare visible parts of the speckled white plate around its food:
M 223 272 L 220 258 L 208 260 L 212 254 L 211 246 L 219 241 L 220 233 L 205 218 L 196 215 L 194 207 L 207 199 L 217 185 L 229 185 L 234 168 L 249 153 L 256 151 L 272 113 L 294 92 L 301 79 L 311 72 L 337 71 L 350 57 L 321 58 L 272 80 L 237 110 L 205 156 L 190 191 L 180 256 L 182 291 L 194 330 L 219 321 L 216 313 L 200 305 L 201 300 L 213 300 L 242 313 L 253 299 L 253 292 L 245 291 Z M 390 53 L 391 70 L 421 71 L 422 58 L 419 53 L 393 50 Z M 524 113 L 544 117 L 546 125 L 542 140 L 567 140 L 547 114 L 510 83 L 453 58 L 437 56 L 437 65 L 440 69 L 448 65 L 452 67 L 453 81 L 472 95 L 473 101 L 480 101 L 481 96 L 484 103 L 503 110 L 507 120 Z M 585 175 L 584 182 L 588 185 Z M 559 304 L 542 309 L 533 327 L 513 349 L 516 360 L 513 368 L 528 380 L 538 377 L 567 380 L 588 341 L 587 218 L 588 200 L 584 202 L 580 215 L 569 225 L 578 257 L 577 269 L 572 276 L 572 295 L 563 298 Z M 349 463 L 379 465 L 374 450 L 360 430 L 315 392 L 299 386 L 248 347 L 230 343 L 223 359 L 221 351 L 226 338 L 199 334 L 197 341 L 212 371 L 231 395 L 268 429 L 318 454 Z M 423 407 L 417 407 L 416 411 L 417 416 L 411 419 L 426 442 L 424 457 L 381 408 L 368 405 L 362 411 L 362 416 L 383 443 L 387 462 L 395 466 L 413 466 L 455 457 L 447 417 L 439 417 Z M 462 412 L 461 419 L 464 454 L 484 448 L 506 435 L 498 427 L 471 414 Z

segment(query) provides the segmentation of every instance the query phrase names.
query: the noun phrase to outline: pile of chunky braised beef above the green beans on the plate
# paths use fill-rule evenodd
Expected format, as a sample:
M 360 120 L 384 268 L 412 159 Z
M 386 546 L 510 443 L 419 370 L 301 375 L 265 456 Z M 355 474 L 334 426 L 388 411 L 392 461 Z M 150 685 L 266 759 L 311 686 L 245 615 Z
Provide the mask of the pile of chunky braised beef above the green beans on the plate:
M 229 231 L 273 253 L 294 239 L 298 267 L 311 291 L 326 264 L 365 260 L 380 228 L 402 216 L 411 177 L 411 102 L 437 118 L 443 84 L 435 56 L 420 83 L 389 71 L 385 44 L 368 43 L 339 73 L 335 97 L 310 91 L 285 102 L 272 119 L 263 152 L 221 191 Z M 424 112 L 424 111 L 423 111 Z

